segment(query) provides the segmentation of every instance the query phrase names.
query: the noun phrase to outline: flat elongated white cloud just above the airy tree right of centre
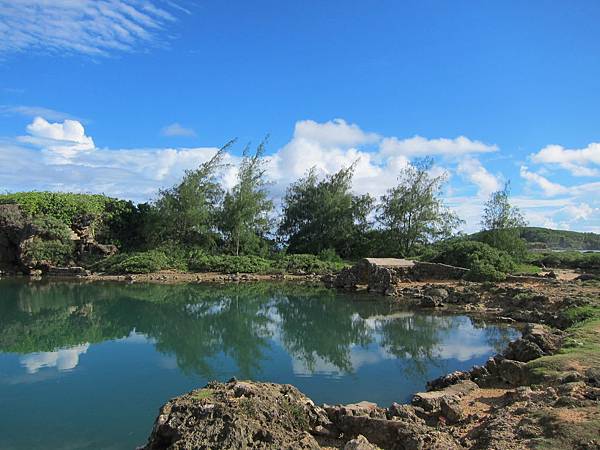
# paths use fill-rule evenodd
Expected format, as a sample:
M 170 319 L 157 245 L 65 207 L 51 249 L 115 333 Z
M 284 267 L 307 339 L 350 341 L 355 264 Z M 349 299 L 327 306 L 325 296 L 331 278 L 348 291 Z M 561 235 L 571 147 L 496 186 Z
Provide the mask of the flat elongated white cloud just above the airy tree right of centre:
M 381 142 L 381 153 L 384 156 L 422 157 L 439 155 L 456 157 L 474 153 L 490 153 L 497 150 L 496 145 L 473 141 L 465 136 L 459 136 L 455 139 L 426 139 L 421 136 L 414 136 L 409 139 L 389 137 Z

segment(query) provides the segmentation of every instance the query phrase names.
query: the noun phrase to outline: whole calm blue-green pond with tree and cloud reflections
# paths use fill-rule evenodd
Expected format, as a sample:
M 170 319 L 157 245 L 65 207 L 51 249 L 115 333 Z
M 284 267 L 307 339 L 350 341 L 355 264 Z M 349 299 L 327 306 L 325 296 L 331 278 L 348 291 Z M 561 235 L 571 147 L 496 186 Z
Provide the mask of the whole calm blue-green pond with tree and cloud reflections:
M 285 284 L 2 280 L 0 448 L 134 448 L 166 400 L 232 376 L 387 406 L 517 335 Z

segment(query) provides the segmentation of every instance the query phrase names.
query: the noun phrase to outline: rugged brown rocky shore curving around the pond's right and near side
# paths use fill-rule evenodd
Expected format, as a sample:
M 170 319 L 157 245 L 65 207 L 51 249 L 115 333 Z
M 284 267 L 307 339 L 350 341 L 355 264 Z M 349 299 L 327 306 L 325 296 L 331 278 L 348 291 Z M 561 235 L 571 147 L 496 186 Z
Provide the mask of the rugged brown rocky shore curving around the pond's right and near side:
M 316 406 L 289 385 L 210 383 L 168 402 L 144 448 L 599 449 L 600 365 L 561 352 L 578 337 L 568 312 L 598 307 L 599 294 L 581 282 L 403 283 L 394 298 L 409 307 L 527 325 L 484 366 L 430 381 L 410 405 Z

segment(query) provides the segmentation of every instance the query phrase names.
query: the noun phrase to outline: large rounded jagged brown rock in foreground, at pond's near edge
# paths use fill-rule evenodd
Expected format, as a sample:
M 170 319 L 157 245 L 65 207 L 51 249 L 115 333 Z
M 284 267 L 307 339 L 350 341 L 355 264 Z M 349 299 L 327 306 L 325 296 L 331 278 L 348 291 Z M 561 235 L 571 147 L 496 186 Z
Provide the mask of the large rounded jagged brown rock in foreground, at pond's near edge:
M 319 449 L 309 431 L 331 427 L 325 411 L 298 389 L 230 381 L 164 405 L 145 449 Z

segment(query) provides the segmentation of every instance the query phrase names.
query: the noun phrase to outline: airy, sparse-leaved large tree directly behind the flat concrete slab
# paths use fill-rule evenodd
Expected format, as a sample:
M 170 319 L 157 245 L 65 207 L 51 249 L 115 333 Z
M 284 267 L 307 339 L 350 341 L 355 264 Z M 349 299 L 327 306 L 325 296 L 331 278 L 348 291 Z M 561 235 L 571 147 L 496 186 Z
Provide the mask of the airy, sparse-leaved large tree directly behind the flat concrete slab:
M 398 185 L 381 197 L 377 219 L 383 225 L 388 252 L 411 256 L 416 246 L 449 238 L 461 223 L 441 199 L 446 176 L 431 176 L 433 160 L 409 164 Z

